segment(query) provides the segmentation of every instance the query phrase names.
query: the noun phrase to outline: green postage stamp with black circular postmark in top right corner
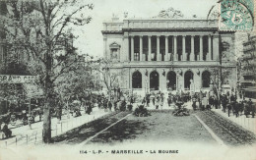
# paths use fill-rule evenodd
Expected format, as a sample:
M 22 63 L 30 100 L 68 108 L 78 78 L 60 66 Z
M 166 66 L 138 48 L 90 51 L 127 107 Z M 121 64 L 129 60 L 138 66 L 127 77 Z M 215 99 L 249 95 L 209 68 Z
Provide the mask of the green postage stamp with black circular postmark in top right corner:
M 253 28 L 253 0 L 223 0 L 220 8 L 220 30 L 251 30 Z

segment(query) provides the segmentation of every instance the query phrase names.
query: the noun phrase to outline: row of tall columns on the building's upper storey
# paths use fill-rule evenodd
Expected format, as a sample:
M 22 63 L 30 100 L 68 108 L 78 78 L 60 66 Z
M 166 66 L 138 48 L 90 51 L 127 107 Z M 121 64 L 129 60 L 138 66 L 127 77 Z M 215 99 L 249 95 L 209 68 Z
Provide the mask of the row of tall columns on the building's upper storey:
M 135 58 L 135 36 L 139 36 L 139 43 L 140 43 L 140 49 L 139 49 L 139 56 Z M 145 53 L 145 57 L 143 57 L 143 36 L 148 36 L 148 52 Z M 182 36 L 182 53 L 180 55 L 180 58 L 178 57 L 178 44 L 177 43 L 177 36 L 179 35 L 128 35 L 127 37 L 130 38 L 128 39 L 128 54 L 131 54 L 130 56 L 127 55 L 128 61 L 153 61 L 152 57 L 152 36 L 157 37 L 157 54 L 156 55 L 156 60 L 157 61 L 215 61 L 219 60 L 219 35 L 216 34 L 200 34 L 200 35 L 180 35 Z M 160 53 L 160 36 L 165 37 L 165 53 Z M 173 53 L 168 53 L 169 51 L 169 45 L 168 45 L 168 40 L 169 36 L 172 38 L 172 51 Z M 186 36 L 190 36 L 190 52 L 186 53 Z M 195 36 L 199 36 L 199 53 L 195 53 Z M 208 36 L 208 52 L 203 53 L 203 36 Z M 130 45 L 129 45 L 130 43 Z M 213 46 L 212 46 L 213 45 Z M 130 46 L 130 50 L 129 50 Z M 148 58 L 146 58 L 146 54 Z M 204 54 L 206 54 L 205 59 Z M 161 57 L 164 56 L 164 57 Z M 196 57 L 198 56 L 198 57 Z M 129 58 L 130 57 L 130 58 Z

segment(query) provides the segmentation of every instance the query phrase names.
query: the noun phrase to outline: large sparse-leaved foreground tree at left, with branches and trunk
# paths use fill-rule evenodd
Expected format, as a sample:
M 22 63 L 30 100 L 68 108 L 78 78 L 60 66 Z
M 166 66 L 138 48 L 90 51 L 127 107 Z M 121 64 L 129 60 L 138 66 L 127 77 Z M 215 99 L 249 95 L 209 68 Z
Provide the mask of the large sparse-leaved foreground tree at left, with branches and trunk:
M 78 0 L 10 0 L 8 13 L 0 24 L 8 39 L 11 55 L 27 56 L 32 74 L 40 76 L 43 88 L 43 141 L 51 141 L 50 102 L 54 98 L 54 81 L 68 73 L 78 61 L 73 47 L 72 27 L 89 24 L 91 17 L 81 13 L 93 4 Z M 61 52 L 63 51 L 64 52 Z

